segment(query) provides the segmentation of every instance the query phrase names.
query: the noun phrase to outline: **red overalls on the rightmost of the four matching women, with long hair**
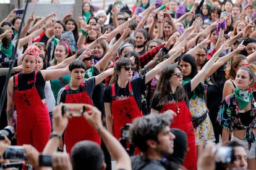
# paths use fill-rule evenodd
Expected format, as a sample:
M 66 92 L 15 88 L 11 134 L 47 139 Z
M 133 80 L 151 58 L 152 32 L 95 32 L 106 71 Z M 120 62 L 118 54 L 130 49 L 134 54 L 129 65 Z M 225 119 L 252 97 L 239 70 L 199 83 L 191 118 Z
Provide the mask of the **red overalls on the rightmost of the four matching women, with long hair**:
M 177 107 L 180 111 L 177 113 Z M 161 108 L 161 113 L 166 110 L 173 110 L 177 116 L 174 116 L 171 127 L 181 129 L 187 134 L 187 153 L 183 166 L 189 170 L 197 169 L 197 150 L 195 148 L 195 133 L 192 124 L 192 116 L 185 101 L 167 103 Z

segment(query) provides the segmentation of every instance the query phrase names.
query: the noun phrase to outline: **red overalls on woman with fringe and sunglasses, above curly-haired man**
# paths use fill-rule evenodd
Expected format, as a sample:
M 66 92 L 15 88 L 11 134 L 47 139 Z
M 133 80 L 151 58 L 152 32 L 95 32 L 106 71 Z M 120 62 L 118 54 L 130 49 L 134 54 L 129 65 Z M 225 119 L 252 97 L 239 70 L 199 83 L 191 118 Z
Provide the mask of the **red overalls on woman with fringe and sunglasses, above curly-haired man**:
M 132 83 L 129 81 L 129 96 L 127 99 L 116 100 L 116 91 L 114 84 L 111 85 L 112 102 L 111 111 L 113 118 L 113 135 L 117 140 L 121 138 L 121 129 L 126 123 L 132 123 L 132 121 L 142 116 L 135 99 L 134 92 L 132 91 Z

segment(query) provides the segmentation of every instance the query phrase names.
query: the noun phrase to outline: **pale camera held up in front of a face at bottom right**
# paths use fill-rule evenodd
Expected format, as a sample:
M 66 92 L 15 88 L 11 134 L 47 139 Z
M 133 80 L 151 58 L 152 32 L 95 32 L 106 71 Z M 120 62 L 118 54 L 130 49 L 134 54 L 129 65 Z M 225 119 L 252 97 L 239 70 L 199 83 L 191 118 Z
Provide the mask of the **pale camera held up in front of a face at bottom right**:
M 215 156 L 216 163 L 233 163 L 234 149 L 232 147 L 214 147 L 211 152 L 215 152 L 216 149 L 218 149 Z

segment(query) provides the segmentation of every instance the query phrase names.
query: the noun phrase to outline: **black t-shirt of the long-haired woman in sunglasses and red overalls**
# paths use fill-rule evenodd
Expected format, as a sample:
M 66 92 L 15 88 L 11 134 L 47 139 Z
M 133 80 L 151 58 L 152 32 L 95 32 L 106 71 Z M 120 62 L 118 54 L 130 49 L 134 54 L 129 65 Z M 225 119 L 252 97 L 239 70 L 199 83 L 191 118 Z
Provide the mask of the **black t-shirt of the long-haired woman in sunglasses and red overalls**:
M 188 99 L 187 100 L 184 99 L 184 100 L 186 100 L 187 107 L 189 107 L 189 99 L 191 99 L 191 97 L 193 95 L 193 93 L 191 92 L 191 83 L 190 83 L 190 81 L 188 83 L 184 84 L 182 87 L 186 91 Z M 176 100 L 175 95 L 174 94 L 168 94 L 168 101 L 171 101 L 173 99 Z M 158 95 L 155 95 L 153 100 L 152 100 L 150 108 L 153 108 L 157 111 L 160 111 L 163 106 L 158 105 L 158 103 L 159 103 Z

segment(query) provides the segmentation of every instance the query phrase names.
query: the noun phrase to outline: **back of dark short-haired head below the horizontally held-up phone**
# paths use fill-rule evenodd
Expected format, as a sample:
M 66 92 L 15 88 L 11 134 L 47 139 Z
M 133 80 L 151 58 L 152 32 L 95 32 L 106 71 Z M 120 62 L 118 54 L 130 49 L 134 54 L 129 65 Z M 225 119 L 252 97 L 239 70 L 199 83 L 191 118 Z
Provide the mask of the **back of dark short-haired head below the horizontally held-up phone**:
M 73 170 L 101 170 L 105 166 L 104 154 L 95 142 L 83 140 L 74 145 L 71 150 Z

